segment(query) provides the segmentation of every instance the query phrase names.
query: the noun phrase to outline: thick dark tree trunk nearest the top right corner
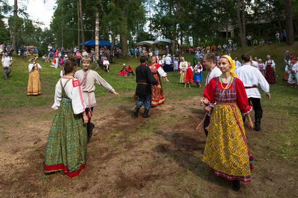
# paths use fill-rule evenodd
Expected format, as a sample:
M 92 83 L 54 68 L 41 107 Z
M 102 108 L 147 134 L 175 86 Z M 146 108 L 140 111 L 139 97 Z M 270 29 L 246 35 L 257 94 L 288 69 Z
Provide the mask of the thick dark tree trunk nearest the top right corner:
M 292 4 L 291 0 L 285 0 L 286 4 L 286 41 L 289 46 L 294 44 L 293 18 L 292 18 Z

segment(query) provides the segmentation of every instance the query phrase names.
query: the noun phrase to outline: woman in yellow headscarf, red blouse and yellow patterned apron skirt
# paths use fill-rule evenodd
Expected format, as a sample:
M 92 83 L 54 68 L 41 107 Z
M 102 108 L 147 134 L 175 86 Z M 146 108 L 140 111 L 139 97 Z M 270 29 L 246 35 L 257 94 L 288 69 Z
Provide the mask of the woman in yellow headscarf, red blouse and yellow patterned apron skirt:
M 233 72 L 235 63 L 230 56 L 224 55 L 219 60 L 221 76 L 213 78 L 204 90 L 201 105 L 212 107 L 211 122 L 207 127 L 207 137 L 203 161 L 215 171 L 215 175 L 233 181 L 232 189 L 240 189 L 240 181 L 249 183 L 250 169 L 253 168 L 252 155 L 249 152 L 242 111 L 250 129 L 253 128 L 248 99 L 244 85 Z

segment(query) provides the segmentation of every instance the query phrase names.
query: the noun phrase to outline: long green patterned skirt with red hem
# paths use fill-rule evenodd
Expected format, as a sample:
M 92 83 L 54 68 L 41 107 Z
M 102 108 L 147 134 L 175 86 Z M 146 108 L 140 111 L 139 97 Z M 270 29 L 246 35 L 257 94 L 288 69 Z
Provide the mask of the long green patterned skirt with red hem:
M 45 173 L 63 171 L 79 175 L 86 165 L 87 128 L 81 114 L 74 114 L 71 100 L 63 99 L 49 132 Z

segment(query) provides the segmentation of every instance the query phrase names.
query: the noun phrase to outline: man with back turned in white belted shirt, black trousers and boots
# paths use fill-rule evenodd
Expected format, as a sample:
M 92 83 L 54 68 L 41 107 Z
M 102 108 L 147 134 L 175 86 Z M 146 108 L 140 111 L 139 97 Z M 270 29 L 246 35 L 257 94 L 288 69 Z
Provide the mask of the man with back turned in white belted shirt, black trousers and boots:
M 239 67 L 235 73 L 238 78 L 243 82 L 245 87 L 246 95 L 248 98 L 248 103 L 252 103 L 253 109 L 255 111 L 255 131 L 261 130 L 261 119 L 263 115 L 263 109 L 261 106 L 261 93 L 258 89 L 260 85 L 262 90 L 266 93 L 266 98 L 270 99 L 271 96 L 269 94 L 269 84 L 266 81 L 265 77 L 262 73 L 255 67 L 250 65 L 249 55 L 243 54 L 241 56 L 241 60 L 243 66 Z M 245 121 L 245 117 L 243 117 L 243 123 Z

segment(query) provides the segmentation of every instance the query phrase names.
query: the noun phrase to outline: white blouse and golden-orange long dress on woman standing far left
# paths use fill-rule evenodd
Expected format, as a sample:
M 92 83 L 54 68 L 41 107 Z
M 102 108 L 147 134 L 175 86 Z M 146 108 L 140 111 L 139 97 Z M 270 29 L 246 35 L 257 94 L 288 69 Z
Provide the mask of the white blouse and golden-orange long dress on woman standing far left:
M 39 71 L 41 70 L 40 64 L 29 64 L 29 79 L 27 87 L 27 96 L 39 95 L 42 92 Z

